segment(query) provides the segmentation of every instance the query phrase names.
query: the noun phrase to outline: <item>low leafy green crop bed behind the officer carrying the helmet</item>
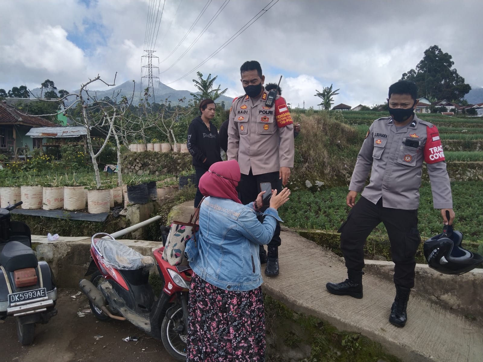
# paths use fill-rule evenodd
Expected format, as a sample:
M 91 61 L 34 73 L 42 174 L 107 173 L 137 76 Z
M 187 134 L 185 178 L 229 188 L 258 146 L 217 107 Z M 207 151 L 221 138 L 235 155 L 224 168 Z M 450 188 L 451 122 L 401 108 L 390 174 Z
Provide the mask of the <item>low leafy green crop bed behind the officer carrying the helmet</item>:
M 483 243 L 483 193 L 481 181 L 453 182 L 453 203 L 456 213 L 455 227 L 464 234 L 463 242 Z M 347 218 L 349 208 L 345 205 L 347 187 L 331 187 L 311 193 L 295 190 L 290 200 L 279 210 L 285 225 L 292 228 L 337 230 Z M 433 209 L 431 188 L 423 183 L 420 189 L 419 232 L 429 238 L 442 230 L 439 210 Z M 387 239 L 383 224 L 377 226 L 371 236 Z

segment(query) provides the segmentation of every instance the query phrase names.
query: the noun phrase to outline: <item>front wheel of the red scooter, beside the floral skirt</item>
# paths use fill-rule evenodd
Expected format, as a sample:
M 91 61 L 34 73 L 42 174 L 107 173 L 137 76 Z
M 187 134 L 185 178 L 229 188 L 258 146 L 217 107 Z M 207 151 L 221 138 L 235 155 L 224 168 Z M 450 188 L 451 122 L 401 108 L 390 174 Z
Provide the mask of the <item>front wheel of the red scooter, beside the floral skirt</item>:
M 176 304 L 166 312 L 161 324 L 161 340 L 166 351 L 177 361 L 186 361 L 186 335 L 183 308 Z

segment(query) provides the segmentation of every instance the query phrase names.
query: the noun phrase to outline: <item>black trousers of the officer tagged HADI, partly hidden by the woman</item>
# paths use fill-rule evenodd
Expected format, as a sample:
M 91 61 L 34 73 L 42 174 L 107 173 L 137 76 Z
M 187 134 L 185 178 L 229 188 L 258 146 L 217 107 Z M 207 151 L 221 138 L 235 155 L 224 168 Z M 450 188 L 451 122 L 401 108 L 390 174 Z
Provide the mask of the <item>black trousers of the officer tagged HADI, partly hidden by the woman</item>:
M 251 168 L 248 175 L 241 174 L 241 179 L 238 186 L 241 203 L 243 205 L 246 205 L 250 202 L 255 201 L 256 196 L 258 196 L 258 194 L 260 193 L 260 183 L 262 182 L 270 182 L 272 185 L 272 189 L 277 189 L 277 193 L 279 193 L 282 190 L 282 180 L 280 180 L 279 177 L 280 175 L 278 171 L 262 173 L 261 175 L 254 175 Z M 268 207 L 262 208 L 262 211 L 265 211 L 266 209 L 268 209 Z M 263 218 L 263 216 L 260 216 L 258 217 L 258 220 L 260 220 L 260 222 L 263 222 Z M 275 226 L 275 232 L 268 246 L 279 247 L 280 244 L 280 222 L 277 221 L 277 225 Z

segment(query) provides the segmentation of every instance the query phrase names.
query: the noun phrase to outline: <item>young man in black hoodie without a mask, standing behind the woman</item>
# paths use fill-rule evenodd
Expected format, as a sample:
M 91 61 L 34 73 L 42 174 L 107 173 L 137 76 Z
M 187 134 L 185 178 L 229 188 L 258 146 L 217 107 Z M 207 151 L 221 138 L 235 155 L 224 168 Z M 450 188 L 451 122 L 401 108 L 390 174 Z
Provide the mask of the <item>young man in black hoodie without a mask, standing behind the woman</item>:
M 211 165 L 221 161 L 220 140 L 218 130 L 211 120 L 214 117 L 215 104 L 213 99 L 203 99 L 199 103 L 201 115 L 191 121 L 188 128 L 188 141 L 186 146 L 193 156 L 193 166 L 196 171 L 197 183 Z M 198 207 L 203 195 L 196 192 L 195 208 Z

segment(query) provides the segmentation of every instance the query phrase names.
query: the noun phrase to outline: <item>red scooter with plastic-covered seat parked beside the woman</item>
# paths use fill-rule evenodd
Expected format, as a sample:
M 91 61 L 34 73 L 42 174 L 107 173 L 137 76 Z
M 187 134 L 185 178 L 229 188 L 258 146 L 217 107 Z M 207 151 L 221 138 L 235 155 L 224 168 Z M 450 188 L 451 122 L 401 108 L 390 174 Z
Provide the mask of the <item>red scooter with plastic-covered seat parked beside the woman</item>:
M 163 245 L 169 226 L 161 227 Z M 81 291 L 89 299 L 92 313 L 99 320 L 128 320 L 153 338 L 161 339 L 168 353 L 179 361 L 186 360 L 186 335 L 188 326 L 188 291 L 192 270 L 189 266 L 172 266 L 162 259 L 164 246 L 156 249 L 159 275 L 164 280 L 161 294 L 156 297 L 148 283 L 149 268 L 134 270 L 115 268 L 119 261 L 129 265 L 144 263 L 149 267 L 155 261 L 151 257 L 133 255 L 133 251 L 106 233 L 92 237 L 90 253 L 92 261 L 85 276 L 89 280 L 79 282 Z M 118 252 L 116 255 L 114 252 Z M 128 259 L 128 260 L 127 260 Z

